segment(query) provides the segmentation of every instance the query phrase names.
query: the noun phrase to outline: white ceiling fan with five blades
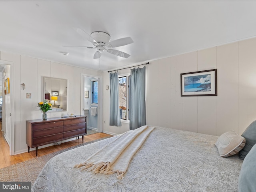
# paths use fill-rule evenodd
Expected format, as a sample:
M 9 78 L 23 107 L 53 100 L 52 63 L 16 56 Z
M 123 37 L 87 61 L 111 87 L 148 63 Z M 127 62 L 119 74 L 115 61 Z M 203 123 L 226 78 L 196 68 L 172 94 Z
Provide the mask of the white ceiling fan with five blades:
M 84 39 L 90 41 L 94 46 L 87 47 L 87 46 L 64 45 L 63 47 L 82 47 L 82 48 L 89 48 L 89 49 L 97 49 L 97 51 L 95 52 L 95 54 L 93 56 L 94 59 L 100 58 L 101 53 L 104 50 L 106 50 L 108 53 L 111 53 L 111 54 L 114 54 L 116 56 L 123 57 L 123 58 L 128 58 L 130 56 L 129 54 L 127 54 L 125 52 L 112 49 L 115 47 L 120 47 L 120 46 L 124 46 L 124 45 L 133 43 L 133 40 L 130 37 L 125 37 L 125 38 L 120 38 L 117 40 L 110 41 L 110 35 L 105 32 L 95 31 L 95 32 L 92 32 L 91 35 L 89 35 L 88 33 L 86 33 L 84 30 L 82 30 L 80 28 L 77 28 L 76 31 Z

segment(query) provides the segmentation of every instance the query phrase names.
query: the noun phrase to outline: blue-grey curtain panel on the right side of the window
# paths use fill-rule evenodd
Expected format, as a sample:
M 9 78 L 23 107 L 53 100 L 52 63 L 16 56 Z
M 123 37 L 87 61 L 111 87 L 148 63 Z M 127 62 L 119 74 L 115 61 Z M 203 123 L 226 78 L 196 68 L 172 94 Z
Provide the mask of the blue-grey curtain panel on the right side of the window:
M 130 129 L 146 125 L 146 66 L 131 69 L 130 77 Z

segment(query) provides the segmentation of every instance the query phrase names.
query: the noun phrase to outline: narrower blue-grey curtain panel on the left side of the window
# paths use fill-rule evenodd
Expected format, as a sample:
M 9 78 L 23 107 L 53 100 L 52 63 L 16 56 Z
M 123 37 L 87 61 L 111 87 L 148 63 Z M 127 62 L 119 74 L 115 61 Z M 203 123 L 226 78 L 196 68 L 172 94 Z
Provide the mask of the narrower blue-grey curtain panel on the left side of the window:
M 118 72 L 109 74 L 110 78 L 110 118 L 109 125 L 122 126 L 119 110 Z

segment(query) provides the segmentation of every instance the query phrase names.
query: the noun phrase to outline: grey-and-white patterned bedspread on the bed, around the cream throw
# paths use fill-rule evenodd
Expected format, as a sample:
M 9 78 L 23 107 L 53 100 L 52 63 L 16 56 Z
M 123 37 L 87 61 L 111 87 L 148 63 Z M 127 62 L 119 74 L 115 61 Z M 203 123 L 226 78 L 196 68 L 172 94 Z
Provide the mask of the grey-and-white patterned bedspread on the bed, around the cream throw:
M 32 186 L 33 192 L 237 192 L 242 160 L 223 158 L 218 136 L 155 127 L 134 154 L 122 179 L 74 168 L 117 136 L 63 152 L 52 158 Z

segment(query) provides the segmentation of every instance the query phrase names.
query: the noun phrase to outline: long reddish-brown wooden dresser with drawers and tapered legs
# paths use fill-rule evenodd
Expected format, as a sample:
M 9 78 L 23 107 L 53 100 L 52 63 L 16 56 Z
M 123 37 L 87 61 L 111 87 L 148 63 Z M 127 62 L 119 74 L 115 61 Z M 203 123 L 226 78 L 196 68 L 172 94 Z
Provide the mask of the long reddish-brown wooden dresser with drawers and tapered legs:
M 82 136 L 86 132 L 86 116 L 76 115 L 68 118 L 49 118 L 47 120 L 26 120 L 26 143 L 30 148 Z

